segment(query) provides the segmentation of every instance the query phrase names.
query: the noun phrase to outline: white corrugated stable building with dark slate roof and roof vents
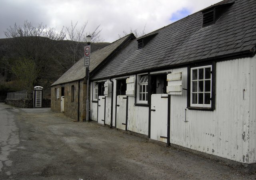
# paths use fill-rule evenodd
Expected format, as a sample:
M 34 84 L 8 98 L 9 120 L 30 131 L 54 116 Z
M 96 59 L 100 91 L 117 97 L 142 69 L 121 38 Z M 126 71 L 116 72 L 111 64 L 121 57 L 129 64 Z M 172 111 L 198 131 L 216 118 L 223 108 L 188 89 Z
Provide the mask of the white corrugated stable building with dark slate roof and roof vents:
M 224 0 L 131 40 L 91 74 L 90 118 L 255 168 L 255 7 Z

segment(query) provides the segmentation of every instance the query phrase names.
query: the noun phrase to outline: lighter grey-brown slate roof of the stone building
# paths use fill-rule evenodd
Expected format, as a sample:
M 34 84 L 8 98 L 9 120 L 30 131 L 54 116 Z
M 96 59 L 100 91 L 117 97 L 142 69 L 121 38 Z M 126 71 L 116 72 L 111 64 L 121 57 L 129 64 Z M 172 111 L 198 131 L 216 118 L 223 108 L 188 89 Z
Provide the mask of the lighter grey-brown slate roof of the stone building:
M 112 42 L 108 46 L 101 48 L 92 52 L 90 55 L 90 72 L 92 72 L 100 63 L 102 63 L 108 56 L 115 52 L 120 46 L 127 42 L 131 37 L 134 37 L 133 34 L 129 34 Z M 86 67 L 84 66 L 84 58 L 81 58 L 76 64 L 74 64 L 67 72 L 65 72 L 56 82 L 51 86 L 57 84 L 63 84 L 66 82 L 72 82 L 76 80 L 81 80 L 86 75 Z

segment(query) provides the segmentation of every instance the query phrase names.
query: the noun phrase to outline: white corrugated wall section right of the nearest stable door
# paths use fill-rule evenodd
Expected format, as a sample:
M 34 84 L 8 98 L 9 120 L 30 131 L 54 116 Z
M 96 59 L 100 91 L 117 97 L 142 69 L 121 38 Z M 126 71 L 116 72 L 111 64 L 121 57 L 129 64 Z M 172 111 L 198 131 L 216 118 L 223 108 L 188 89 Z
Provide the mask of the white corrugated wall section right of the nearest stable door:
M 255 61 L 243 58 L 217 62 L 216 109 L 187 109 L 188 122 L 184 122 L 186 90 L 182 95 L 171 95 L 170 142 L 238 162 L 255 163 Z M 186 72 L 183 70 L 182 77 L 185 86 Z

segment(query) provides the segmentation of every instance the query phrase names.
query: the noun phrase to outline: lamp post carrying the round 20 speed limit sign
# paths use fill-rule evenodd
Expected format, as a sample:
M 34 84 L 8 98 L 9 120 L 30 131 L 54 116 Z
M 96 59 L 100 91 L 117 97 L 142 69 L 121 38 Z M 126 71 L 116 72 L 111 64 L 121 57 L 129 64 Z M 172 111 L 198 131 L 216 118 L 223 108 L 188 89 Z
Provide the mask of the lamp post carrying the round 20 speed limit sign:
M 90 81 L 89 81 L 89 66 L 90 66 L 90 50 L 91 50 L 91 46 L 90 46 L 90 44 L 91 44 L 91 39 L 92 37 L 91 36 L 86 36 L 86 42 L 87 42 L 87 45 L 88 46 L 86 46 L 84 49 L 84 53 L 85 53 L 85 56 L 86 57 L 89 57 L 89 65 L 86 67 L 86 71 L 88 71 L 88 72 L 86 72 L 87 73 L 87 96 L 86 96 L 86 122 L 89 122 L 89 83 L 90 83 Z M 88 48 L 89 48 L 89 52 L 86 52 L 86 49 L 88 50 Z M 86 58 L 85 57 L 85 58 Z

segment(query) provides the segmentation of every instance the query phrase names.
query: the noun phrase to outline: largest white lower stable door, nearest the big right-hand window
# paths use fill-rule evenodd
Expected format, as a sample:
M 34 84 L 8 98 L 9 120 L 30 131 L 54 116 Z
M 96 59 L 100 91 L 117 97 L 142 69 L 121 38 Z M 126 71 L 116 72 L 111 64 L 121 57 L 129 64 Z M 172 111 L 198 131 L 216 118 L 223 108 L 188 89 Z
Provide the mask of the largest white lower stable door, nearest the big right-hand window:
M 167 143 L 168 94 L 152 94 L 150 111 L 150 138 Z

